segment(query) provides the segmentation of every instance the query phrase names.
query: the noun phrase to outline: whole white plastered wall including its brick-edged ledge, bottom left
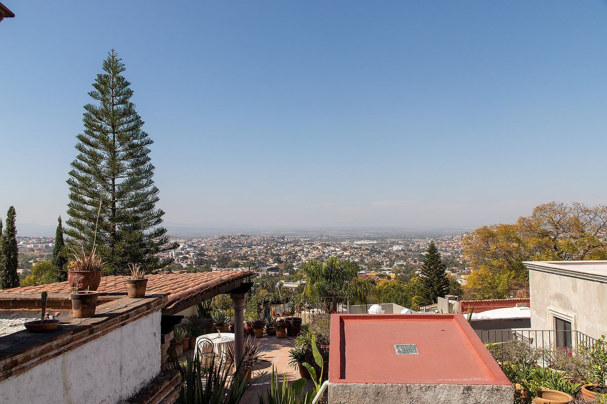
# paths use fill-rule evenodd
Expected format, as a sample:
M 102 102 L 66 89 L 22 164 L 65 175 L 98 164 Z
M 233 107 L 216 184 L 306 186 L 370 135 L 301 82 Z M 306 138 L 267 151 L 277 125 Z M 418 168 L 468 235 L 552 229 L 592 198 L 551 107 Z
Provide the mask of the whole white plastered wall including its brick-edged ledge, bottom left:
M 56 331 L 0 337 L 1 403 L 107 403 L 137 394 L 160 373 L 166 297 L 120 298 Z

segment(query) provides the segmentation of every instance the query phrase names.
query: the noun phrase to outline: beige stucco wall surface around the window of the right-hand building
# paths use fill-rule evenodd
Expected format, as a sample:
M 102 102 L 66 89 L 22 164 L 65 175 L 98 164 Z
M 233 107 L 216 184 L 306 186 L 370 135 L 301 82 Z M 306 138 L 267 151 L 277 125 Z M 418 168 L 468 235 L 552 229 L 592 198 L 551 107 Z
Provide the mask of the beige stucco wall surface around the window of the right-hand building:
M 572 329 L 593 338 L 607 334 L 607 284 L 529 271 L 531 328 L 554 329 L 553 313 L 572 320 Z

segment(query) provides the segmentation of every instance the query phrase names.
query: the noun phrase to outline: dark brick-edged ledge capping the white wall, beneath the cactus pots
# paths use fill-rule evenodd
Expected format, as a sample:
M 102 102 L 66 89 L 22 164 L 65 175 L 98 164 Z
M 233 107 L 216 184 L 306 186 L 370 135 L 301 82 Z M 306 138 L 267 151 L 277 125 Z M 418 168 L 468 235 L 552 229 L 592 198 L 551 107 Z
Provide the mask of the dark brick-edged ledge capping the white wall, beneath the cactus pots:
M 166 295 L 118 298 L 97 306 L 94 317 L 74 318 L 67 315 L 61 318 L 59 327 L 50 332 L 24 330 L 0 337 L 0 381 L 160 311 L 166 301 Z

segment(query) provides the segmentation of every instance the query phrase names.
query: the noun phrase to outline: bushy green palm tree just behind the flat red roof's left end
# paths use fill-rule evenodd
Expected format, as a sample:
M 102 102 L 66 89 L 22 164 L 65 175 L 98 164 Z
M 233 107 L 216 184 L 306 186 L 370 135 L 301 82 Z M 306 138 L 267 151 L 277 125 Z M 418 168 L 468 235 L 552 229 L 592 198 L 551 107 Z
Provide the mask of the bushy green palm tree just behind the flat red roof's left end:
M 306 293 L 331 298 L 331 310 L 337 311 L 337 297 L 347 296 L 355 300 L 366 300 L 375 285 L 358 278 L 358 264 L 342 261 L 337 257 L 327 261 L 312 260 L 302 269 L 307 277 Z

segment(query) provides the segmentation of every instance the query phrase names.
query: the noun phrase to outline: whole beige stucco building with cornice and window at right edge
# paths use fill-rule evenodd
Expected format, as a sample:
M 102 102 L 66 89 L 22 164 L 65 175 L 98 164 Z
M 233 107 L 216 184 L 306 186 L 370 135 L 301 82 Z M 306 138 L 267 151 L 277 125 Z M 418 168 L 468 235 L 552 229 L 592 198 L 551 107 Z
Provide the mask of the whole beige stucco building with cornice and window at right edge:
M 531 328 L 549 330 L 553 344 L 580 334 L 607 334 L 607 261 L 528 261 Z M 583 336 L 582 336 L 583 337 Z

